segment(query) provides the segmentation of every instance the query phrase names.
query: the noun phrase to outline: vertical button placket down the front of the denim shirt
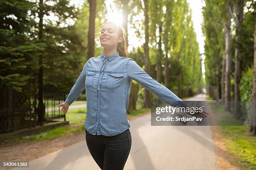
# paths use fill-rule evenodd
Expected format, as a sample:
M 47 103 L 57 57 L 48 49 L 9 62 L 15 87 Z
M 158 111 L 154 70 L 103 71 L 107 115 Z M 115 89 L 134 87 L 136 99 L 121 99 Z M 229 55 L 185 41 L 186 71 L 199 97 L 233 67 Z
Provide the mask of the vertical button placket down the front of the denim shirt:
M 108 58 L 105 57 L 104 61 L 103 61 L 103 65 L 102 65 L 102 68 L 100 69 L 100 81 L 97 85 L 97 115 L 96 115 L 96 135 L 97 134 L 100 134 L 100 126 L 99 126 L 99 123 L 100 123 L 100 86 L 101 86 L 101 83 L 102 83 L 102 76 L 104 74 L 104 70 L 105 70 L 105 67 L 106 67 L 106 62 L 107 62 Z

